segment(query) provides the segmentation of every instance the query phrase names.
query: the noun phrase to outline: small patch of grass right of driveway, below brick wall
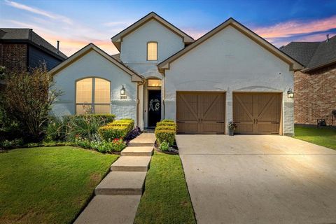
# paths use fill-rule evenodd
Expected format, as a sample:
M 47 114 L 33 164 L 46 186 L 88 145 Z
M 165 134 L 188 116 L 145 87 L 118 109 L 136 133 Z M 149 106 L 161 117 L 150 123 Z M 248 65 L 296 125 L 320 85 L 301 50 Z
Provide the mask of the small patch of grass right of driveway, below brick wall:
M 295 127 L 294 138 L 336 150 L 336 130 L 317 127 Z

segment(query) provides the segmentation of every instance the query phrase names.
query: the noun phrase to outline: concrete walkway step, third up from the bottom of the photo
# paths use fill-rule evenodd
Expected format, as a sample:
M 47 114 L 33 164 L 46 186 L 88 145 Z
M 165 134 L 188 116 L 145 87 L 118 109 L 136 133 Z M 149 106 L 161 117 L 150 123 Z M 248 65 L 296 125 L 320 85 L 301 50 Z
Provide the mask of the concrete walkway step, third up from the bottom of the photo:
M 147 172 L 151 156 L 121 156 L 111 165 L 111 171 Z

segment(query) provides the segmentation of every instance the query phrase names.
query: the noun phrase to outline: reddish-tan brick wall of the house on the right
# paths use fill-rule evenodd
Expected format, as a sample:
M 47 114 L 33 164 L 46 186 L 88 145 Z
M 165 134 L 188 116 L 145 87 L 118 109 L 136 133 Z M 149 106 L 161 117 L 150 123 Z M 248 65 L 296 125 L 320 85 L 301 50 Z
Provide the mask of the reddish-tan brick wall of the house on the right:
M 331 111 L 336 109 L 336 64 L 309 73 L 296 71 L 294 92 L 295 123 L 316 125 L 316 119 L 325 119 L 331 125 Z

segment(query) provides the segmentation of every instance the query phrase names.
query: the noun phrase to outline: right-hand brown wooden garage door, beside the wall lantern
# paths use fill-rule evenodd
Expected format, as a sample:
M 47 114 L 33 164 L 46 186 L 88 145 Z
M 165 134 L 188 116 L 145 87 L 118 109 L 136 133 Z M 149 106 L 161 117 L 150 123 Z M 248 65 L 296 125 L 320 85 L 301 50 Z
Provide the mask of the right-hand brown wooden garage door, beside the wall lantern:
M 233 120 L 240 134 L 279 134 L 281 94 L 234 93 Z

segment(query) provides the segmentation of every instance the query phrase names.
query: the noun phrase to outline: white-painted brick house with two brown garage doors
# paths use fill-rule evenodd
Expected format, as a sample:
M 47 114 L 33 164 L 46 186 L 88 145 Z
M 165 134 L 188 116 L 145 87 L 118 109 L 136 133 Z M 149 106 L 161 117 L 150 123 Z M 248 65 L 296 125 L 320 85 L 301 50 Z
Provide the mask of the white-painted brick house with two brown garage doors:
M 56 116 L 114 113 L 141 129 L 174 119 L 180 133 L 294 133 L 293 73 L 302 64 L 230 18 L 196 41 L 156 13 L 50 71 L 64 95 Z

